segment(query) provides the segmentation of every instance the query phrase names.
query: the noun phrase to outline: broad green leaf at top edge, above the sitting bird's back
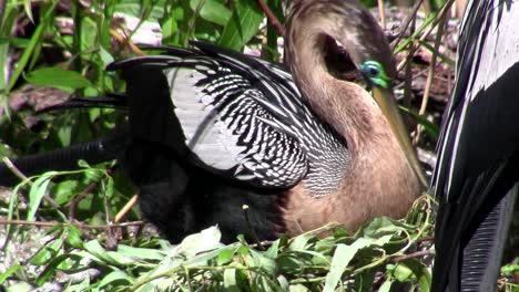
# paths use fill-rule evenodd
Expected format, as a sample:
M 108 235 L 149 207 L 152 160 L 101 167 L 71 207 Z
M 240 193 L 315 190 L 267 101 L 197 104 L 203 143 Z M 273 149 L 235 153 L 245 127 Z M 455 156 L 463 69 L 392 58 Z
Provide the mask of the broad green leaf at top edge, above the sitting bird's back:
M 225 25 L 218 43 L 233 50 L 240 50 L 256 34 L 263 21 L 263 13 L 253 0 L 235 3 L 233 15 Z

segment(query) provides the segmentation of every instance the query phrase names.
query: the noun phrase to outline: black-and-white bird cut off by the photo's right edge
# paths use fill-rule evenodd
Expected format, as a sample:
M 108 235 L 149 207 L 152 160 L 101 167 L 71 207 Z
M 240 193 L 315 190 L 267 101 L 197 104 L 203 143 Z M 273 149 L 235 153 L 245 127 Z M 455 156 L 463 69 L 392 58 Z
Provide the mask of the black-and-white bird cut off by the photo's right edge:
M 495 291 L 519 181 L 519 3 L 468 1 L 432 188 L 432 291 Z

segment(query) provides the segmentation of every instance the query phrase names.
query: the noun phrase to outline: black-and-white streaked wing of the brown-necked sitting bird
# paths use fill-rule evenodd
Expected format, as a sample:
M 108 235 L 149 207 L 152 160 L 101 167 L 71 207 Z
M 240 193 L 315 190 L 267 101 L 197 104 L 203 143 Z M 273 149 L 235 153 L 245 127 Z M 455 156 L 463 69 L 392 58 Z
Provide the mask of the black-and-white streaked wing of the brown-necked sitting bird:
M 319 142 L 325 136 L 344 148 L 315 121 L 288 73 L 238 53 L 196 46 L 165 48 L 166 55 L 131 59 L 109 69 L 126 79 L 132 72 L 161 72 L 179 136 L 206 169 L 258 187 L 287 188 L 309 170 L 308 137 Z M 145 98 L 145 92 L 139 97 L 128 88 L 126 94 Z M 130 119 L 132 111 L 130 106 Z

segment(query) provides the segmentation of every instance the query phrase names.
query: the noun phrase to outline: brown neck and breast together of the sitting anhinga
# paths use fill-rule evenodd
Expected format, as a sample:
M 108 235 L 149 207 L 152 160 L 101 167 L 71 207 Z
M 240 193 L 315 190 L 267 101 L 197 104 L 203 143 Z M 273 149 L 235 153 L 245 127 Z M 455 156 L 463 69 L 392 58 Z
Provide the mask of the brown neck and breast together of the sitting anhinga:
M 328 72 L 326 34 L 318 29 L 323 25 L 312 27 L 317 29 L 287 29 L 285 58 L 303 97 L 345 138 L 352 160 L 342 186 L 329 196 L 312 198 L 303 185 L 291 190 L 284 213 L 287 232 L 311 230 L 330 219 L 354 230 L 377 216 L 401 218 L 420 194 L 418 179 L 370 94 Z

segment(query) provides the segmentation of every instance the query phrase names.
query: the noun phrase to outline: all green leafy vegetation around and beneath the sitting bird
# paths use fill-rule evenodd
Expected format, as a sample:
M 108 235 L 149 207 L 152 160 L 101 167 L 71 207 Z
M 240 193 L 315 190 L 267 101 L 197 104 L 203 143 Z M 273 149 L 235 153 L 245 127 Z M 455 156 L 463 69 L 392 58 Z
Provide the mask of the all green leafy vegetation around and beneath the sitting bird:
M 400 55 L 424 50 L 449 67 L 451 55 L 424 35 L 445 24 L 448 10 L 441 8 L 452 1 L 429 2 L 437 6 L 429 3 L 429 14 L 395 48 Z M 283 22 L 281 0 L 266 3 Z M 125 117 L 113 109 L 34 111 L 69 95 L 121 92 L 124 84 L 104 67 L 141 54 L 133 43 L 142 38 L 145 43 L 180 46 L 196 39 L 281 60 L 279 32 L 263 22 L 255 0 L 8 0 L 2 12 L 0 156 L 10 158 L 91 140 L 118 128 Z M 411 63 L 405 56 L 398 60 L 403 71 Z M 432 70 L 434 63 L 428 63 Z M 428 65 L 419 70 L 424 69 Z M 397 87 L 404 88 L 406 111 L 425 131 L 419 145 L 430 149 L 438 116 L 413 109 L 426 108 L 428 102 L 423 95 L 409 97 L 409 72 Z M 65 291 L 429 289 L 435 202 L 426 195 L 406 219 L 379 218 L 355 234 L 324 227 L 263 244 L 238 238 L 223 246 L 218 231 L 210 228 L 172 247 L 142 227 L 135 208 L 125 213 L 128 222 L 114 222 L 135 190 L 112 166 L 80 163 L 80 170 L 49 171 L 2 192 L 0 285 L 9 291 L 44 285 Z M 22 255 L 18 247 L 27 242 L 35 242 L 35 248 Z M 518 288 L 508 281 L 515 273 L 517 260 L 502 268 L 500 289 Z

